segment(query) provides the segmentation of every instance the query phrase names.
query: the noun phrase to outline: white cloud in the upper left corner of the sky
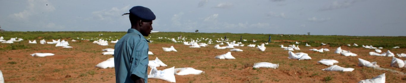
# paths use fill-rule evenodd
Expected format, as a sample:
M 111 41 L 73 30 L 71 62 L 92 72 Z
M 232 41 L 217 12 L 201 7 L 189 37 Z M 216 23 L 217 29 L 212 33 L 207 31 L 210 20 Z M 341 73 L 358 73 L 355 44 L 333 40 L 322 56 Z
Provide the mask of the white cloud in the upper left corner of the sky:
M 9 17 L 19 20 L 28 20 L 32 15 L 49 13 L 55 10 L 55 7 L 52 6 L 52 3 L 48 2 L 48 0 L 28 0 L 27 3 L 27 9 L 19 13 L 11 14 Z

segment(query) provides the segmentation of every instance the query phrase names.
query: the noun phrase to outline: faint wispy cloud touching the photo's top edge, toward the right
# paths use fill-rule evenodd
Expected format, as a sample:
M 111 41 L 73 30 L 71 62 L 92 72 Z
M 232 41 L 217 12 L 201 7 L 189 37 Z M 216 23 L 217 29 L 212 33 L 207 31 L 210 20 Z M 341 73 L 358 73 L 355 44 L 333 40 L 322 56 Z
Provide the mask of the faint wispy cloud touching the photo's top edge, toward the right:
M 362 1 L 362 0 L 339 0 L 334 1 L 326 7 L 320 9 L 320 11 L 328 11 L 334 9 L 344 9 L 348 8 L 349 6 L 353 5 L 355 2 Z

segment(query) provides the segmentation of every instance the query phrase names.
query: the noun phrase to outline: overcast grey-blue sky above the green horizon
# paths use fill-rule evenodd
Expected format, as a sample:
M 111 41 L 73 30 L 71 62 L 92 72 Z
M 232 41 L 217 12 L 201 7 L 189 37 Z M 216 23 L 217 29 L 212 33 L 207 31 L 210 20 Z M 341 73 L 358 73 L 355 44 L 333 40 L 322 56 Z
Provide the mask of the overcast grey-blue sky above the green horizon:
M 0 0 L 0 26 L 127 31 L 133 6 L 160 32 L 406 36 L 406 0 Z

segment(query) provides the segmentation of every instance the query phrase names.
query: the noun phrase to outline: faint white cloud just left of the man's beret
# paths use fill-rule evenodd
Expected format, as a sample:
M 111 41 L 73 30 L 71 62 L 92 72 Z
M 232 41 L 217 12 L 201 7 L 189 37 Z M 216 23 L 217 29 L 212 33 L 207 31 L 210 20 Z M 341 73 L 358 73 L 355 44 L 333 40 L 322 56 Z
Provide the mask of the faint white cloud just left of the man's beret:
M 95 20 L 105 20 L 105 21 L 112 21 L 113 18 L 127 18 L 121 16 L 123 13 L 128 13 L 128 9 L 130 6 L 124 6 L 123 8 L 119 9 L 117 7 L 112 7 L 110 10 L 101 10 L 101 11 L 93 11 L 93 19 Z

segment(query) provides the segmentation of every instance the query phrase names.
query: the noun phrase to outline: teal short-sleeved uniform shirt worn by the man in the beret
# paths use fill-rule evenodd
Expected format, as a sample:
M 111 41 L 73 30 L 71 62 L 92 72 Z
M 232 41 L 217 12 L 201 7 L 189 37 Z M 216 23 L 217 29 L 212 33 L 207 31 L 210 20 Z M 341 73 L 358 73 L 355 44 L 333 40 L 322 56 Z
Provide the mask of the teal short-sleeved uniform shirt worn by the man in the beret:
M 134 83 L 131 74 L 143 78 L 147 83 L 148 43 L 147 39 L 135 29 L 128 29 L 114 45 L 114 69 L 116 83 Z

